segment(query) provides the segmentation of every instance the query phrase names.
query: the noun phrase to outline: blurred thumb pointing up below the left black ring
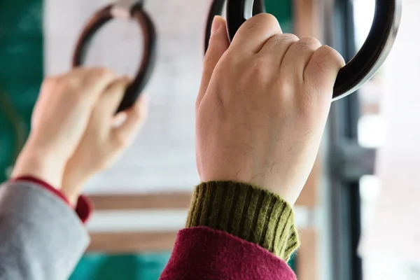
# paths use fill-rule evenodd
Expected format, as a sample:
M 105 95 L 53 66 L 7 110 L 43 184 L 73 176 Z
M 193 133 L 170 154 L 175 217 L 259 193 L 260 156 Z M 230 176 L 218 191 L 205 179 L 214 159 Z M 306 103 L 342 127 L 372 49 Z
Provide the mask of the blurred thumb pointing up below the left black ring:
M 125 117 L 123 117 L 125 120 L 116 124 L 111 132 L 111 141 L 118 148 L 129 146 L 134 141 L 141 126 L 144 125 L 148 115 L 147 97 L 142 95 L 134 106 L 121 113 L 125 114 Z

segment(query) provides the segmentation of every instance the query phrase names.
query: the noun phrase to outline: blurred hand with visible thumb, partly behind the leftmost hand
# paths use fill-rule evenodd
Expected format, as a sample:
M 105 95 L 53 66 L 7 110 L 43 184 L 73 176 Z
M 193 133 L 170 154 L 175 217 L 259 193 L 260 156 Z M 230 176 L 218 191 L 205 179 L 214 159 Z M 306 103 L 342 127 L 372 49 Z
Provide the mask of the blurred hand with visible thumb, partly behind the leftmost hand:
M 94 106 L 80 144 L 64 171 L 62 193 L 75 204 L 80 189 L 91 176 L 109 167 L 132 144 L 146 120 L 147 99 L 115 115 L 130 80 L 114 81 Z

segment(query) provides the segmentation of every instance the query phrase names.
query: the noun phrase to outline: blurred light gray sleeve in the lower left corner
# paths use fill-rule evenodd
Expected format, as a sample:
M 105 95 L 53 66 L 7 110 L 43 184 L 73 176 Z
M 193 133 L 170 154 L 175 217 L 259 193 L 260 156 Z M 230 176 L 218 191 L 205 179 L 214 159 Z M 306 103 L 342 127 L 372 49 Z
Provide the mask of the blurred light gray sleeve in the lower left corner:
M 75 211 L 48 190 L 0 186 L 0 280 L 68 279 L 89 241 Z

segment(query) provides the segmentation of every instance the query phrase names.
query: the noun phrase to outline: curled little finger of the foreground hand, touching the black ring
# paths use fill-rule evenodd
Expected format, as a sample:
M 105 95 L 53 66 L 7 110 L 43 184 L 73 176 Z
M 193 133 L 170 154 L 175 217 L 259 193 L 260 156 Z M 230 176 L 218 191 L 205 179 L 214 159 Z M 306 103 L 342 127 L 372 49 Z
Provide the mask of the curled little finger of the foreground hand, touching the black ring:
M 330 48 L 328 45 L 323 45 L 309 59 L 303 73 L 304 83 L 318 88 L 318 92 L 332 89 L 338 71 L 342 69 L 344 64 L 344 59 L 337 50 Z M 328 97 L 332 97 L 332 90 L 329 94 Z

